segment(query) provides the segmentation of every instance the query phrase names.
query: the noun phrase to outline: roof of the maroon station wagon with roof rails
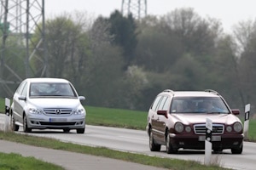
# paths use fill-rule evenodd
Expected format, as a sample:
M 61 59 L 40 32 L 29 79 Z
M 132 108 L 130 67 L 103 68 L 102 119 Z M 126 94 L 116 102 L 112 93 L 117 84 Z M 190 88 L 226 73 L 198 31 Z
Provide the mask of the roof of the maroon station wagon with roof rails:
M 171 94 L 174 97 L 218 97 L 219 94 L 215 91 L 164 91 L 160 94 Z

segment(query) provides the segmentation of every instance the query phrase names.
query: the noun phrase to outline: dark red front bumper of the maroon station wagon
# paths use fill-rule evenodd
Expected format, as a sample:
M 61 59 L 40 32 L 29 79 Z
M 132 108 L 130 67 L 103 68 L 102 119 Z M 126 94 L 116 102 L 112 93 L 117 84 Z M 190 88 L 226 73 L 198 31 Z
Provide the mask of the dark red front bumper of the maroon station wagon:
M 179 149 L 205 149 L 204 135 L 177 135 L 170 134 L 171 144 L 174 148 Z M 236 149 L 239 148 L 243 141 L 243 134 L 222 134 L 212 135 L 212 150 Z

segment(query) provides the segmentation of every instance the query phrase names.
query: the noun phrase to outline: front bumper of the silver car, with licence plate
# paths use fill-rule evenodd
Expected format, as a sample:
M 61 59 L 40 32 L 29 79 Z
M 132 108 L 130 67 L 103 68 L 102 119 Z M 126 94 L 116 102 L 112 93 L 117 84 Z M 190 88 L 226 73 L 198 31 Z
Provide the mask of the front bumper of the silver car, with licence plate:
M 84 128 L 85 116 L 28 116 L 27 127 L 36 129 Z

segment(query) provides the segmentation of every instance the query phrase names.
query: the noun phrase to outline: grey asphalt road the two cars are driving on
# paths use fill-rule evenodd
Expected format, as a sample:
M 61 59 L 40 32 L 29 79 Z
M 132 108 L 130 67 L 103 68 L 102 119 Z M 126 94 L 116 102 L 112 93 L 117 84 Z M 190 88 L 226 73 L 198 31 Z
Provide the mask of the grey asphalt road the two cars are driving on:
M 23 133 L 20 128 L 19 133 Z M 58 130 L 33 130 L 31 135 L 59 139 L 64 142 L 84 144 L 91 146 L 103 146 L 113 150 L 142 153 L 150 156 L 161 156 L 183 160 L 204 162 L 204 150 L 179 150 L 178 154 L 166 154 L 166 147 L 162 146 L 160 152 L 151 152 L 148 148 L 148 135 L 146 131 L 86 126 L 84 134 L 76 131 L 62 133 Z M 224 150 L 221 154 L 212 154 L 212 160 L 223 167 L 233 169 L 254 170 L 256 162 L 256 144 L 244 143 L 241 155 L 232 155 L 230 150 Z

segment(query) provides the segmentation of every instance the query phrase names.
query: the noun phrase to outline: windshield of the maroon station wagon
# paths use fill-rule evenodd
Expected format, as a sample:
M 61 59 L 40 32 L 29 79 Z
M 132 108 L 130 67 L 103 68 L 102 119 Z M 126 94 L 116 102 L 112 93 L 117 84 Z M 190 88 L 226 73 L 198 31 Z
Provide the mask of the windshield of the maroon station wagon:
M 230 113 L 218 97 L 177 97 L 172 100 L 171 113 Z

